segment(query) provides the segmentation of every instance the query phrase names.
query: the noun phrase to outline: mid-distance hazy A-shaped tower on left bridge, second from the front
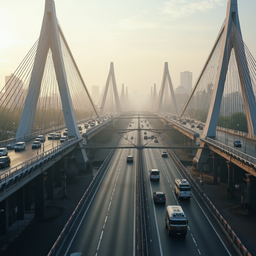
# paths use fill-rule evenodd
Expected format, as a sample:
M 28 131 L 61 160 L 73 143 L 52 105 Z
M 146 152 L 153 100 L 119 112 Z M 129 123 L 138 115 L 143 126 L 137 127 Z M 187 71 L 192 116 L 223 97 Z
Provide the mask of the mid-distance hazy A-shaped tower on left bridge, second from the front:
M 109 96 L 108 99 L 107 99 L 107 96 Z M 114 96 L 114 99 L 112 98 L 113 96 Z M 105 105 L 106 104 L 106 100 L 108 102 L 110 102 L 110 104 L 114 104 L 114 102 L 115 102 L 115 105 L 108 105 L 108 106 L 106 106 Z M 117 90 L 117 87 L 116 87 L 114 63 L 113 62 L 110 62 L 109 75 L 108 75 L 108 78 L 107 78 L 107 81 L 106 81 L 106 85 L 105 85 L 104 91 L 102 92 L 102 95 L 101 95 L 101 98 L 100 98 L 100 101 L 99 101 L 98 105 L 101 108 L 100 109 L 100 114 L 103 113 L 104 108 L 106 108 L 106 107 L 107 108 L 111 108 L 112 110 L 115 107 L 115 110 L 116 110 L 116 112 L 118 114 L 122 113 L 122 108 L 121 108 L 120 101 L 119 101 L 118 90 Z

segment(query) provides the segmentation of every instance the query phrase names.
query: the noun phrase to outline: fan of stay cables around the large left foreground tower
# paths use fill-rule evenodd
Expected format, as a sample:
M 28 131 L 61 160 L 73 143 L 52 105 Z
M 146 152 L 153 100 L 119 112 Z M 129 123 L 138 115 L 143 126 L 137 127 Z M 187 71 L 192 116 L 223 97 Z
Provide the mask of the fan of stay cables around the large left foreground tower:
M 56 129 L 65 124 L 61 102 L 60 83 L 56 72 L 64 64 L 71 102 L 76 115 L 76 120 L 82 122 L 93 113 L 95 106 L 90 93 L 81 77 L 74 61 L 67 41 L 58 24 L 61 54 L 63 62 L 58 60 L 52 21 L 48 23 L 40 37 L 31 47 L 28 54 L 11 76 L 6 77 L 5 87 L 0 98 L 0 136 L 1 140 L 15 136 L 20 117 L 24 109 L 25 100 L 29 89 L 35 95 L 32 112 L 35 119 L 32 132 L 46 129 Z M 39 86 L 33 84 L 41 81 Z M 31 89 L 33 88 L 33 89 Z M 31 95 L 31 94 L 29 94 Z M 28 113 L 25 113 L 28 114 Z M 59 116 L 60 115 L 60 116 Z M 94 111 L 93 116 L 97 113 Z

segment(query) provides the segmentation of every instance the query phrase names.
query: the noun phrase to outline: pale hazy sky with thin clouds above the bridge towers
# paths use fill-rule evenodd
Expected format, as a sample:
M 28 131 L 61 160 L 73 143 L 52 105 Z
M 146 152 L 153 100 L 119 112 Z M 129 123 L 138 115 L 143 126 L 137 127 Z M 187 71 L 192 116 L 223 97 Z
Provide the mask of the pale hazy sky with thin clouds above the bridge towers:
M 174 87 L 180 72 L 193 85 L 226 16 L 227 0 L 55 0 L 57 18 L 91 93 L 114 62 L 118 90 L 159 92 L 164 62 Z M 245 44 L 256 58 L 256 1 L 238 0 Z M 0 88 L 39 37 L 44 0 L 0 0 Z M 101 90 L 101 89 L 100 89 Z

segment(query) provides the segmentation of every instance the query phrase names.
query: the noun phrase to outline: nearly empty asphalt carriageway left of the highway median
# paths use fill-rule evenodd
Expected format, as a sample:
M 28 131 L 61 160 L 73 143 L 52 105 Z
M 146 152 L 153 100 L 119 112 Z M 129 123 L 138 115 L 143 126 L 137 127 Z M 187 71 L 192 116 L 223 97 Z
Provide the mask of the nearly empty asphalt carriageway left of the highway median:
M 134 156 L 133 163 L 126 162 L 128 155 Z M 136 149 L 116 150 L 61 255 L 137 255 L 136 163 Z

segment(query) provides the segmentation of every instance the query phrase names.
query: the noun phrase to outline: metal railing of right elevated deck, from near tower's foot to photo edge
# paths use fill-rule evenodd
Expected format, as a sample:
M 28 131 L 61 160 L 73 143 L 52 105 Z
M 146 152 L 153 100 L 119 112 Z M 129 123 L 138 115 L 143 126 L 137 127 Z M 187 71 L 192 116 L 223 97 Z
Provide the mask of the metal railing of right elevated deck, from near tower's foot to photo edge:
M 232 147 L 229 147 L 225 144 L 222 144 L 218 141 L 215 141 L 211 138 L 206 137 L 205 139 L 200 138 L 201 141 L 204 141 L 207 144 L 212 145 L 213 147 L 218 147 L 220 150 L 224 150 L 227 154 L 231 156 L 237 156 L 240 160 L 247 161 L 249 163 L 252 163 L 253 165 L 256 164 L 256 158 L 249 156 L 247 154 L 242 153 L 241 151 L 238 151 Z

